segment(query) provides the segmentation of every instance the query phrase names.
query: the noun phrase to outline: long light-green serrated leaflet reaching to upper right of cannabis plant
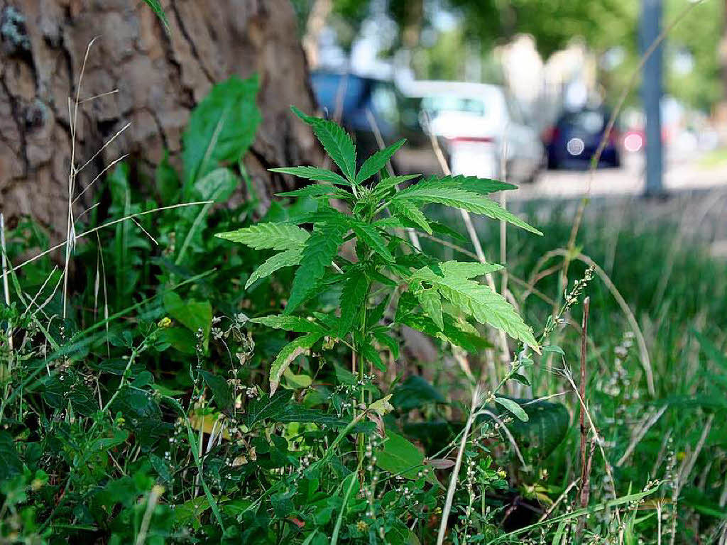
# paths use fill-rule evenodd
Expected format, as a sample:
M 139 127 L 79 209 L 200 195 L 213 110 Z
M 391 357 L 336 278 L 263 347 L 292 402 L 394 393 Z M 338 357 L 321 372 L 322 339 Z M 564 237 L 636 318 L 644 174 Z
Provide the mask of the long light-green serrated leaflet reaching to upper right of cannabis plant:
M 438 186 L 430 182 L 419 182 L 410 185 L 393 195 L 391 202 L 409 201 L 411 203 L 439 203 L 453 208 L 464 209 L 473 214 L 483 214 L 493 219 L 512 223 L 531 233 L 542 235 L 535 227 L 531 227 L 522 219 L 499 206 L 486 195 L 457 189 L 456 187 Z

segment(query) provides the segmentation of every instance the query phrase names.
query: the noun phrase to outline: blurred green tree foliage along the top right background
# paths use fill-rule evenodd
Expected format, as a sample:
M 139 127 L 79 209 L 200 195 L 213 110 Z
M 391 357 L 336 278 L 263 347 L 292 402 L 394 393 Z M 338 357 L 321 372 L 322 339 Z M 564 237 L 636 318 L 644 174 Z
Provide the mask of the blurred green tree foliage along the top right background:
M 478 44 L 483 58 L 493 47 L 518 33 L 534 36 L 539 53 L 547 59 L 576 38 L 601 57 L 609 49 L 622 48 L 624 59 L 608 70 L 599 66 L 607 99 L 626 83 L 638 64 L 638 0 L 293 0 L 305 30 L 305 20 L 317 1 L 329 1 L 328 24 L 344 49 L 350 47 L 371 7 L 384 7 L 397 23 L 398 39 L 391 49 L 422 48 L 422 31 L 432 29 L 433 17 L 442 9 L 459 14 L 454 31 L 440 32 L 432 47 L 417 52 L 414 62 L 419 77 L 453 78 L 461 71 L 465 44 Z M 664 0 L 662 26 L 688 7 L 687 0 Z M 724 3 L 704 0 L 670 32 L 664 49 L 666 91 L 688 105 L 709 110 L 725 94 L 720 84 L 718 43 L 724 31 Z M 688 73 L 675 70 L 675 55 L 691 55 Z M 454 61 L 453 61 L 454 60 Z M 443 62 L 446 61 L 446 62 Z M 486 76 L 491 71 L 485 70 Z M 617 93 L 616 93 L 617 94 Z

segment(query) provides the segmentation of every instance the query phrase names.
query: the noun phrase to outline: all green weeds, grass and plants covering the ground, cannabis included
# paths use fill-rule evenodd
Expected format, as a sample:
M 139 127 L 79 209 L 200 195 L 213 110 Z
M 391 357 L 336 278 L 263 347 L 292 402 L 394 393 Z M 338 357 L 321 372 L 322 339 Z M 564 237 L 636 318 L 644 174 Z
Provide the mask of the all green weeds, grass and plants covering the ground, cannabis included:
M 680 250 L 662 280 L 670 241 L 619 233 L 612 278 L 643 328 L 651 389 L 637 332 L 600 269 L 574 261 L 567 286 L 553 269 L 529 288 L 558 264 L 547 252 L 569 226 L 554 219 L 538 236 L 489 198 L 510 185 L 390 176 L 403 142 L 357 169 L 340 127 L 297 112 L 337 169 L 275 169 L 314 183 L 258 217 L 240 161 L 260 119 L 256 90 L 254 78 L 214 87 L 185 132 L 181 173 L 164 161 L 141 191 L 129 166 L 116 167 L 110 219 L 95 209 L 76 225 L 68 293 L 52 254 L 23 262 L 48 247 L 42 230 L 24 222 L 7 233 L 3 541 L 718 535 L 727 462 L 725 425 L 712 415 L 725 408 L 725 267 Z M 214 206 L 240 188 L 244 204 Z M 515 225 L 512 296 L 491 288 L 500 265 L 460 251 L 470 241 L 457 222 L 433 221 L 446 217 L 441 206 Z M 481 232 L 486 255 L 497 255 L 487 241 L 498 224 Z M 607 228 L 585 233 L 587 249 L 611 247 Z M 586 294 L 581 431 L 570 368 Z

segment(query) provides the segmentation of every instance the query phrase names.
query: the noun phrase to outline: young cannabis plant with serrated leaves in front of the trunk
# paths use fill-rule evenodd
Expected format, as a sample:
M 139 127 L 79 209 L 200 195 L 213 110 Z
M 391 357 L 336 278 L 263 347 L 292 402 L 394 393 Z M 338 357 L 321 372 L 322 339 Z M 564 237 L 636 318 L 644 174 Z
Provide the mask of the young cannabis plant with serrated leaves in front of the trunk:
M 283 314 L 251 320 L 301 334 L 270 366 L 271 395 L 292 361 L 324 339 L 350 347 L 353 371 L 358 372 L 359 379 L 366 374 L 366 366 L 384 371 L 377 346 L 387 347 L 397 357 L 398 344 L 390 333 L 398 325 L 467 348 L 477 336 L 469 318 L 538 350 L 531 328 L 513 306 L 476 280 L 502 265 L 441 262 L 420 251 L 405 235 L 406 230 L 431 235 L 443 228 L 427 218 L 424 207 L 430 203 L 541 234 L 489 198 L 490 193 L 515 186 L 465 176 L 413 182 L 418 175 L 387 175 L 387 161 L 405 140 L 374 153 L 357 169 L 356 148 L 342 127 L 307 116 L 297 108 L 293 111 L 312 127 L 340 173 L 316 166 L 271 169 L 312 180 L 313 184 L 281 195 L 312 198 L 316 209 L 286 222 L 260 223 L 217 235 L 254 249 L 278 251 L 255 270 L 246 288 L 282 267 L 297 267 Z M 398 187 L 407 182 L 403 189 Z M 332 201 L 345 207 L 334 207 Z M 314 307 L 302 310 L 306 302 L 339 285 L 338 315 L 316 312 Z

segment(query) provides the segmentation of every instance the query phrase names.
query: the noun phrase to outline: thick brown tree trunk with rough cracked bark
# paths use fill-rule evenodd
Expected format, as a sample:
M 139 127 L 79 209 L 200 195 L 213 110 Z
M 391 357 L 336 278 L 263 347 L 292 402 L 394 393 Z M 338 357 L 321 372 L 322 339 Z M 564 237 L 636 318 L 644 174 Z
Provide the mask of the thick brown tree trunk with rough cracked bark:
M 0 0 L 0 209 L 31 215 L 65 239 L 71 165 L 69 97 L 76 98 L 87 46 L 76 166 L 93 158 L 80 193 L 124 153 L 150 172 L 168 149 L 174 162 L 190 109 L 231 74 L 260 76 L 263 121 L 245 163 L 257 188 L 278 185 L 269 166 L 317 163 L 312 134 L 289 106 L 313 110 L 294 12 L 287 0 L 162 1 L 169 33 L 137 0 Z M 273 183 L 275 182 L 275 183 Z M 98 183 L 98 182 L 97 182 Z M 265 201 L 265 195 L 262 195 Z M 79 210 L 92 204 L 84 193 Z

